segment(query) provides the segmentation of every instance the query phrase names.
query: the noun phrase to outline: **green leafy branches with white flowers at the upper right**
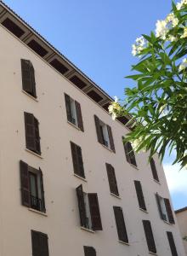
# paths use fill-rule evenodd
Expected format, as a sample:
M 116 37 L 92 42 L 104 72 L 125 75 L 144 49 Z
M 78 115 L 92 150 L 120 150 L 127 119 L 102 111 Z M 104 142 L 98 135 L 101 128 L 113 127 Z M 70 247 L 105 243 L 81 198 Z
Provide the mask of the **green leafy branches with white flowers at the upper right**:
M 158 20 L 156 33 L 142 35 L 133 44 L 139 57 L 132 66 L 136 86 L 125 89 L 125 100 L 111 103 L 113 119 L 131 115 L 133 131 L 125 140 L 150 157 L 176 150 L 173 162 L 187 164 L 187 0 L 173 3 L 172 13 Z M 128 123 L 129 125 L 129 123 Z

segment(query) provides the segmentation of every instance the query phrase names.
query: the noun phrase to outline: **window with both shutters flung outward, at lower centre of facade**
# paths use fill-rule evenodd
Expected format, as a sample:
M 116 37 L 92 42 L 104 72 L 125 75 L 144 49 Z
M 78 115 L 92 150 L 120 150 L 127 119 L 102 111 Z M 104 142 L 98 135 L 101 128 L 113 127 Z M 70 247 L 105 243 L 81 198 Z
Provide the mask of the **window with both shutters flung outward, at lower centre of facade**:
M 98 195 L 84 193 L 82 185 L 76 190 L 81 226 L 88 230 L 102 230 Z

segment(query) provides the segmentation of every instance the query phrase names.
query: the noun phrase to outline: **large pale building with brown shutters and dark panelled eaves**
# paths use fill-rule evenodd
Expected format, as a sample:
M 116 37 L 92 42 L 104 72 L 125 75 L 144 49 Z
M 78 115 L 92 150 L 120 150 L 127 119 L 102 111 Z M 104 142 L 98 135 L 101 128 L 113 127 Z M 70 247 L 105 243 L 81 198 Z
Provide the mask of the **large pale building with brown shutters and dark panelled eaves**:
M 1 256 L 184 256 L 157 156 L 111 97 L 0 3 Z

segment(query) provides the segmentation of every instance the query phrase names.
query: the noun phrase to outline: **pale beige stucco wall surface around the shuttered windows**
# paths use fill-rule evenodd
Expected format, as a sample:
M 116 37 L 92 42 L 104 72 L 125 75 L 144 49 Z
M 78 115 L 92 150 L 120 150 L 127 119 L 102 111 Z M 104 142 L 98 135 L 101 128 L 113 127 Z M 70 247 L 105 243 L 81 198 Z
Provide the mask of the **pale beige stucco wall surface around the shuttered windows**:
M 161 184 L 153 180 L 147 154 L 137 154 L 139 169 L 125 158 L 122 136 L 127 129 L 85 96 L 40 57 L 0 26 L 0 238 L 1 255 L 31 256 L 31 230 L 48 234 L 50 256 L 83 255 L 83 246 L 93 246 L 98 256 L 149 255 L 142 219 L 150 219 L 157 254 L 171 255 L 166 231 L 172 231 L 178 256 L 184 248 L 178 225 L 161 221 L 155 193 L 169 197 L 166 178 L 159 160 L 156 167 Z M 32 62 L 37 83 L 37 100 L 22 92 L 20 59 Z M 81 103 L 85 131 L 67 123 L 64 93 Z M 26 151 L 24 111 L 39 120 L 42 159 Z M 94 114 L 111 125 L 116 154 L 98 143 Z M 87 182 L 74 176 L 70 141 L 82 147 Z M 19 161 L 43 172 L 47 217 L 31 212 L 20 203 Z M 110 194 L 105 162 L 115 167 L 121 199 Z M 148 213 L 139 210 L 133 180 L 140 180 Z M 96 192 L 103 231 L 81 230 L 75 189 Z M 123 209 L 130 246 L 120 243 L 116 233 L 113 206 Z

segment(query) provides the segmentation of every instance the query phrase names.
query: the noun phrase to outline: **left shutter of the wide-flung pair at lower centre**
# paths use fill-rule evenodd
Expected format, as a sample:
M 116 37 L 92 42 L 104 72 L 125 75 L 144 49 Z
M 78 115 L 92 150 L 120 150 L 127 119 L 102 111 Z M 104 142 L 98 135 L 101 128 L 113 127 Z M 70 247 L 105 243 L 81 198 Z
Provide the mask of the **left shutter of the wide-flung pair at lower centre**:
M 86 214 L 86 207 L 84 203 L 82 185 L 78 186 L 76 191 L 77 191 L 78 209 L 80 214 L 81 226 L 88 228 L 88 220 L 87 220 L 87 214 Z

